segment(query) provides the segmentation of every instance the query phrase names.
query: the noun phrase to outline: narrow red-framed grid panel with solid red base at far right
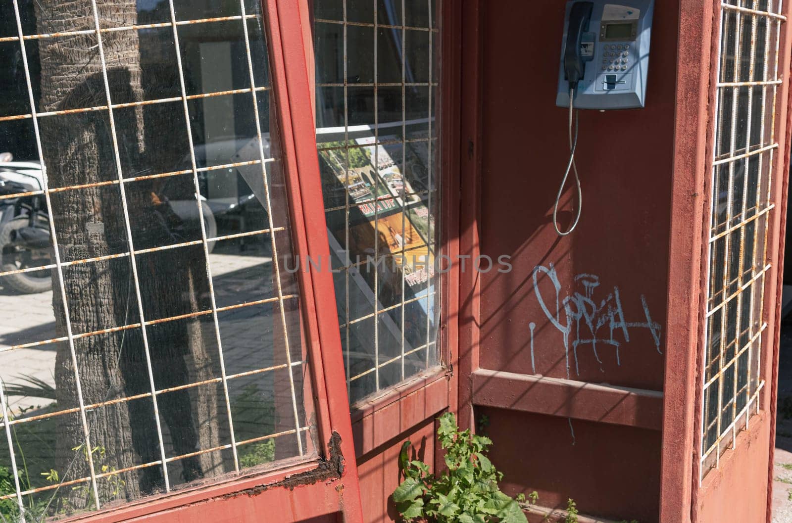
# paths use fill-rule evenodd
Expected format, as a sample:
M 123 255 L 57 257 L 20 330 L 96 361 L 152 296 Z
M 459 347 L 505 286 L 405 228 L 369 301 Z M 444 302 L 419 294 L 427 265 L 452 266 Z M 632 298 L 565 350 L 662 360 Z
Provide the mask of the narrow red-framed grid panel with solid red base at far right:
M 769 521 L 789 13 L 775 0 L 714 2 L 694 427 L 698 521 Z

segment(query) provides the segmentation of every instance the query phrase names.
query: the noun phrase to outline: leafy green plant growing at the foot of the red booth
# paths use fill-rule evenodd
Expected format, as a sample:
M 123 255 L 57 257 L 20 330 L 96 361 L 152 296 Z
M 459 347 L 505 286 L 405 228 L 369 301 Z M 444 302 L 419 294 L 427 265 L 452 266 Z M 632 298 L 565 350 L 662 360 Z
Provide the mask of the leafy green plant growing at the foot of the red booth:
M 406 521 L 425 518 L 436 523 L 527 523 L 520 503 L 501 492 L 503 478 L 488 457 L 492 441 L 459 430 L 451 412 L 440 416 L 437 438 L 445 450 L 447 470 L 429 474 L 421 460 L 409 459 L 410 442 L 399 456 L 405 479 L 393 493 L 399 514 Z

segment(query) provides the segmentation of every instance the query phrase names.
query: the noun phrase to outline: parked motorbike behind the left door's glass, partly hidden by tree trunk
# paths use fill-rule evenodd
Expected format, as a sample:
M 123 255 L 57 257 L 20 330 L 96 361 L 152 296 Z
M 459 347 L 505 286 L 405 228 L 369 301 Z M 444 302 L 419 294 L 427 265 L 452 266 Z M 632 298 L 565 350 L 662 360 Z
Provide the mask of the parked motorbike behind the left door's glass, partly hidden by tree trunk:
M 36 193 L 44 188 L 41 165 L 37 161 L 13 161 L 11 153 L 0 153 L 0 271 L 19 271 L 51 265 L 47 199 Z M 13 195 L 19 195 L 14 197 Z M 217 237 L 217 224 L 206 198 L 199 196 L 204 214 L 204 229 L 208 238 Z M 199 218 L 195 200 L 171 200 L 173 213 L 183 222 Z M 208 243 L 209 252 L 215 242 Z M 2 286 L 19 294 L 33 294 L 50 290 L 51 270 L 17 272 L 0 278 Z

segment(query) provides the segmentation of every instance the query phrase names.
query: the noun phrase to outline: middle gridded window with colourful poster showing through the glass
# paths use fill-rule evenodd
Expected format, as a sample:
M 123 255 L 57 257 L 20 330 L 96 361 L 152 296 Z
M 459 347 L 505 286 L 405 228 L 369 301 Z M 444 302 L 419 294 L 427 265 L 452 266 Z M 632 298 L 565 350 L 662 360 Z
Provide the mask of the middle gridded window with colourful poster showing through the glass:
M 436 9 L 314 4 L 317 143 L 353 403 L 439 361 Z

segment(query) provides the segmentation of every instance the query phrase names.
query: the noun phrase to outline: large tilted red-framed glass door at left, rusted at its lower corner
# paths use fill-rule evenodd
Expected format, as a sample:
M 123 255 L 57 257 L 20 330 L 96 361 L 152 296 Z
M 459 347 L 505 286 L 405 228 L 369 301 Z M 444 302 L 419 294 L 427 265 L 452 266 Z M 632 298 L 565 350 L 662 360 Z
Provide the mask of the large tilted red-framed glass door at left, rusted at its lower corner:
M 307 2 L 3 9 L 3 521 L 361 523 Z

